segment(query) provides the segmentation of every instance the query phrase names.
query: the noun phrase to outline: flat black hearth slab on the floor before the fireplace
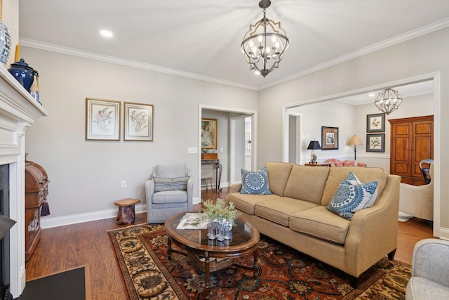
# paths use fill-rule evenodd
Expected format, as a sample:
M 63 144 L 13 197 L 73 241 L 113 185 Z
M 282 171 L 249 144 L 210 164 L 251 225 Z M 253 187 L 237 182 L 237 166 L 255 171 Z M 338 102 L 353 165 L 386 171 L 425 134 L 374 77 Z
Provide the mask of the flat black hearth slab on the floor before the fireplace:
M 81 267 L 30 280 L 15 300 L 84 300 L 85 277 L 84 267 Z

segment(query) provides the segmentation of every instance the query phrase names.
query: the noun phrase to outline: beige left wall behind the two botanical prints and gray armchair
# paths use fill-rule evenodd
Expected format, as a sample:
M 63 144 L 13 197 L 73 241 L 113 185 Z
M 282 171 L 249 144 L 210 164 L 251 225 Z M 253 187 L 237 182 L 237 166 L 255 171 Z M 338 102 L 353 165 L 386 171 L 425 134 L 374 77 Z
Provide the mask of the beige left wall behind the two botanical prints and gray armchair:
M 198 200 L 201 150 L 187 154 L 187 148 L 199 147 L 199 105 L 257 109 L 256 91 L 35 48 L 22 47 L 22 57 L 39 71 L 41 102 L 50 112 L 26 141 L 28 159 L 51 180 L 51 215 L 43 226 L 114 216 L 114 201 L 126 197 L 145 204 L 144 184 L 156 164 L 191 167 Z M 86 97 L 153 104 L 154 141 L 85 141 Z M 220 137 L 226 135 L 220 128 L 227 125 L 219 124 Z

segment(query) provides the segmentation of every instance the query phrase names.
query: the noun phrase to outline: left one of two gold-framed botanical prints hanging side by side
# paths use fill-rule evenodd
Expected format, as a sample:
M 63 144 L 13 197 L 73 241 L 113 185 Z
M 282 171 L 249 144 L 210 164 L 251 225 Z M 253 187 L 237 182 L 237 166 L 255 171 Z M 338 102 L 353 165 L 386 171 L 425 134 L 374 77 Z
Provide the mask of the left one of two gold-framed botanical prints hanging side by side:
M 120 141 L 120 101 L 86 98 L 86 141 Z

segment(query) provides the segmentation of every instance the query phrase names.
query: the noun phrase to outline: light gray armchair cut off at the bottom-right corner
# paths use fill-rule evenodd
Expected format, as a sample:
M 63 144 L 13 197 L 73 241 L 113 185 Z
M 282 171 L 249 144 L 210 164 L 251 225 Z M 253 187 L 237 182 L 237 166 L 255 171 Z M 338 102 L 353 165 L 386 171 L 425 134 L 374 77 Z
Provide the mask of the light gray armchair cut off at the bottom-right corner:
M 449 241 L 424 239 L 413 249 L 406 300 L 449 299 Z

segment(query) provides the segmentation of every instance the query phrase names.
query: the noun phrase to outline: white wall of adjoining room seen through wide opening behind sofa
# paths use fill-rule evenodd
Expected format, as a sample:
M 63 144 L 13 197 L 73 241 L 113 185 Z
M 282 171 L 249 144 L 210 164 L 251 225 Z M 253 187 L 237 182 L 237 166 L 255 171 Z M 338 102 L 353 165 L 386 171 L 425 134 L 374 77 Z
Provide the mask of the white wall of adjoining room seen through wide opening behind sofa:
M 365 105 L 347 105 L 329 100 L 320 103 L 311 103 L 290 109 L 291 112 L 300 113 L 303 118 L 302 129 L 302 163 L 309 162 L 311 150 L 307 150 L 309 141 L 321 141 L 321 126 L 333 124 L 339 127 L 339 150 L 315 150 L 318 161 L 328 158 L 354 159 L 354 146 L 349 146 L 349 138 L 354 134 L 358 136 L 363 145 L 357 146 L 357 162 L 364 162 L 368 167 L 381 167 L 389 172 L 390 154 L 390 125 L 389 119 L 405 117 L 419 117 L 434 115 L 434 95 L 427 94 L 403 98 L 403 103 L 390 115 L 385 116 L 385 145 L 384 152 L 366 152 L 366 117 L 367 115 L 380 113 L 373 103 Z M 326 116 L 325 118 L 320 116 Z M 344 117 L 342 117 L 344 116 Z M 325 125 L 328 126 L 328 125 Z

